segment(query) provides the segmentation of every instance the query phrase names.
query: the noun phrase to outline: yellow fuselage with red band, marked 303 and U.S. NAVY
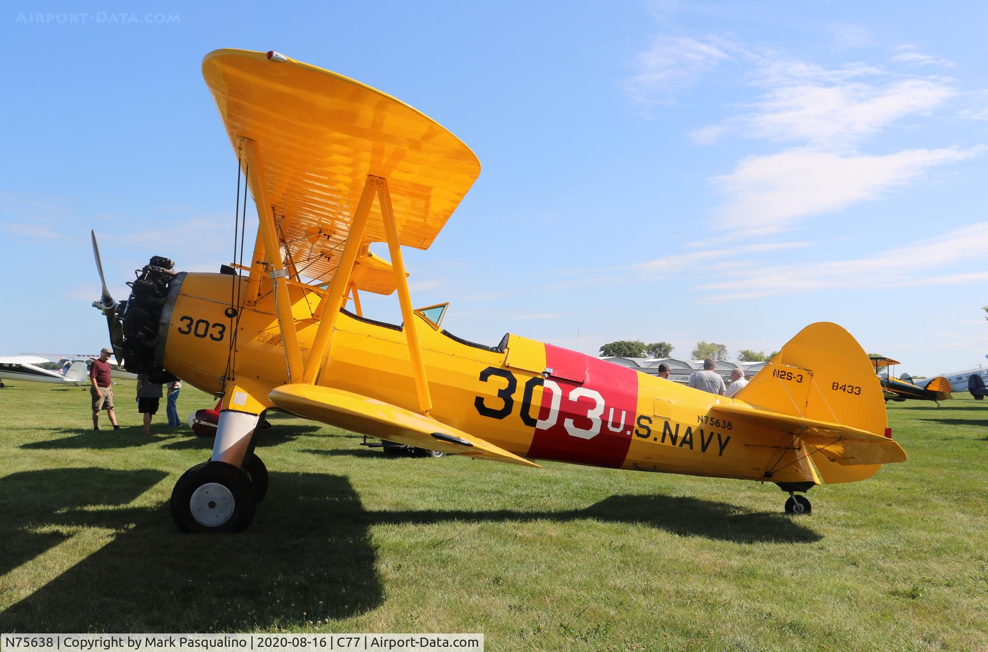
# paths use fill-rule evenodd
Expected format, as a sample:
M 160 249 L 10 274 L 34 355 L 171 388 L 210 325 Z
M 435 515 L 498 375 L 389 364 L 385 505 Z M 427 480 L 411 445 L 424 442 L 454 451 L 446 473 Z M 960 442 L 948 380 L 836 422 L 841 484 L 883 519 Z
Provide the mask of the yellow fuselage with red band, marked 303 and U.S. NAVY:
M 266 395 L 288 382 L 273 296 L 262 288 L 255 305 L 231 318 L 230 285 L 237 279 L 180 275 L 162 312 L 156 359 L 206 392 L 222 392 L 228 376 Z M 320 298 L 301 285 L 290 290 L 305 358 Z M 746 479 L 784 466 L 773 482 L 816 481 L 808 461 L 785 449 L 791 440 L 778 431 L 710 413 L 735 399 L 513 334 L 497 346 L 469 343 L 415 318 L 430 415 L 498 447 L 534 459 Z M 405 336 L 400 326 L 342 311 L 317 383 L 417 411 Z M 791 463 L 780 464 L 780 455 L 791 456 Z

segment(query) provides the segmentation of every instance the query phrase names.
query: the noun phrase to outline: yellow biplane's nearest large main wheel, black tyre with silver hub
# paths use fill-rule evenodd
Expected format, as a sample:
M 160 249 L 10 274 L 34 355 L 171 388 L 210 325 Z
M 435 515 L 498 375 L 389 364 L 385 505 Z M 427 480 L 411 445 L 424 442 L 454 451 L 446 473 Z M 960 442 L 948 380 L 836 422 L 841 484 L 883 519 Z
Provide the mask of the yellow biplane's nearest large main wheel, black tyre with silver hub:
M 184 532 L 247 530 L 255 508 L 247 474 L 226 462 L 193 466 L 172 490 L 172 519 Z

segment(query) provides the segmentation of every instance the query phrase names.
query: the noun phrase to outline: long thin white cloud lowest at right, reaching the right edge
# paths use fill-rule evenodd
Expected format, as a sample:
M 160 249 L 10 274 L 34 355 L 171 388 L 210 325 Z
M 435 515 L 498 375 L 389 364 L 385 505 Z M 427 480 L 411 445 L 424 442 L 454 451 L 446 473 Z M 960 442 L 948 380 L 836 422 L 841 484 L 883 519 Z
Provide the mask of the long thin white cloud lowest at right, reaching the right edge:
M 719 290 L 708 301 L 750 299 L 834 287 L 983 285 L 988 272 L 944 274 L 958 263 L 988 256 L 988 222 L 979 222 L 869 258 L 763 266 L 737 271 L 730 281 L 702 285 Z

